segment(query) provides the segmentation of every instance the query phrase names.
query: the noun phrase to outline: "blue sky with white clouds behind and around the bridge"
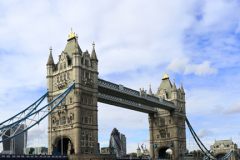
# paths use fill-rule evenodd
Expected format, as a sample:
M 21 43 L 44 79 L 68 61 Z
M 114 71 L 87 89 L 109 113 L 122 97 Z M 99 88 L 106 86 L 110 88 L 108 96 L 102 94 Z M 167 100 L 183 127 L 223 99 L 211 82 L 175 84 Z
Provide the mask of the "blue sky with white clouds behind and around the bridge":
M 187 117 L 204 144 L 232 138 L 240 146 L 239 8 L 237 0 L 2 0 L 0 120 L 46 92 L 49 47 L 57 62 L 72 27 L 83 51 L 95 42 L 100 78 L 135 90 L 151 84 L 156 93 L 166 71 L 177 87 L 183 82 Z M 98 107 L 101 147 L 116 127 L 127 152 L 149 148 L 147 114 Z M 46 121 L 40 133 L 47 146 Z

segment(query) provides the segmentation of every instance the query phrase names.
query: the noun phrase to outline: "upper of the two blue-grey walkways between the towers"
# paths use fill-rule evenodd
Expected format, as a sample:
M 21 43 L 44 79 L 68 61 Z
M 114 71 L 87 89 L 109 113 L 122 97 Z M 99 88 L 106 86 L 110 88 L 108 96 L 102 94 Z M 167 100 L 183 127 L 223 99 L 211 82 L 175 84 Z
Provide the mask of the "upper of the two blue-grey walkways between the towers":
M 131 95 L 131 96 L 134 96 L 136 98 L 140 98 L 140 99 L 143 98 L 143 99 L 146 99 L 148 101 L 151 101 L 151 102 L 154 102 L 154 103 L 157 103 L 157 104 L 168 106 L 172 109 L 176 108 L 174 106 L 174 103 L 171 102 L 171 101 L 167 101 L 167 100 L 164 100 L 162 98 L 157 98 L 155 96 L 151 96 L 151 95 L 148 95 L 148 94 L 146 94 L 145 97 L 142 97 L 141 96 L 141 91 L 136 91 L 136 90 L 124 87 L 121 84 L 117 85 L 117 84 L 114 84 L 112 82 L 108 82 L 108 81 L 105 81 L 103 79 L 100 79 L 100 78 L 98 78 L 98 86 L 107 88 L 109 90 L 114 90 L 114 91 L 117 91 L 117 92 L 121 92 L 121 93 L 124 93 L 124 94 L 127 94 L 127 95 Z

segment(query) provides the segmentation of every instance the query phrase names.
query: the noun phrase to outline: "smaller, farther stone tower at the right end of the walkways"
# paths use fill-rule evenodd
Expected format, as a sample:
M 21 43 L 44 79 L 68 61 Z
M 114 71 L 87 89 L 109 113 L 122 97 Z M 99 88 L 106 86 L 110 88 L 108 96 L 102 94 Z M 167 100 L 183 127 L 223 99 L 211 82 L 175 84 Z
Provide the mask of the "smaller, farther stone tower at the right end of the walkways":
M 175 81 L 170 82 L 169 77 L 163 76 L 162 82 L 156 94 L 152 94 L 151 86 L 149 94 L 172 101 L 176 106 L 173 111 L 158 109 L 157 114 L 149 114 L 150 131 L 150 156 L 152 158 L 166 158 L 166 150 L 172 150 L 172 159 L 178 159 L 186 150 L 185 132 L 185 92 L 177 89 Z

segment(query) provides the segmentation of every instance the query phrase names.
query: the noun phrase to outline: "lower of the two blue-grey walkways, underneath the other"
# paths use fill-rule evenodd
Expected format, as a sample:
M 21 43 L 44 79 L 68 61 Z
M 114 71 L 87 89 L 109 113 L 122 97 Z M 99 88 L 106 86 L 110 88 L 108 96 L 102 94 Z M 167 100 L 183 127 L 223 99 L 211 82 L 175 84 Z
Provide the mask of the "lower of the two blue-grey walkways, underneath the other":
M 153 113 L 157 112 L 156 107 L 151 107 L 151 106 L 148 106 L 148 105 L 145 105 L 145 104 L 140 104 L 140 103 L 137 103 L 137 102 L 134 102 L 134 101 L 130 101 L 130 100 L 127 100 L 127 99 L 115 97 L 115 96 L 104 94 L 104 93 L 101 93 L 101 92 L 98 92 L 98 98 L 111 100 L 111 101 L 116 102 L 116 103 L 132 106 L 132 107 L 136 107 L 136 108 L 141 108 L 141 109 L 153 112 Z

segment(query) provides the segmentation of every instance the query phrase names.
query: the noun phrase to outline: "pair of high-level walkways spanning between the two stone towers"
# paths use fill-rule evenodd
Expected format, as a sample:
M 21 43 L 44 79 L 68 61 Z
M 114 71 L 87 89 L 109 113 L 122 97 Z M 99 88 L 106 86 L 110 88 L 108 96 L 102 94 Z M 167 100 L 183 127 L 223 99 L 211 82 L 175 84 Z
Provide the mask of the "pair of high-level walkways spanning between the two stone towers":
M 171 101 L 148 94 L 142 95 L 141 91 L 100 78 L 98 78 L 98 101 L 144 113 L 156 113 L 157 108 L 165 110 L 174 110 L 176 108 Z

